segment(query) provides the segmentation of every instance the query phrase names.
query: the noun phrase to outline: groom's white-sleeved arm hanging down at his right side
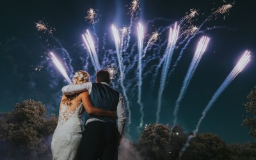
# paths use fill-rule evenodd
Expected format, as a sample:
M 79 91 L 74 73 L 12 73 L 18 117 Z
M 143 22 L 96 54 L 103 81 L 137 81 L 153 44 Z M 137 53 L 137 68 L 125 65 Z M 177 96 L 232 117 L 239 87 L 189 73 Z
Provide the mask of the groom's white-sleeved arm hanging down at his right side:
M 121 95 L 119 97 L 119 102 L 116 108 L 116 115 L 117 115 L 117 128 L 118 128 L 118 132 L 120 133 L 120 139 L 121 139 L 124 133 L 125 120 L 126 120 L 124 99 Z

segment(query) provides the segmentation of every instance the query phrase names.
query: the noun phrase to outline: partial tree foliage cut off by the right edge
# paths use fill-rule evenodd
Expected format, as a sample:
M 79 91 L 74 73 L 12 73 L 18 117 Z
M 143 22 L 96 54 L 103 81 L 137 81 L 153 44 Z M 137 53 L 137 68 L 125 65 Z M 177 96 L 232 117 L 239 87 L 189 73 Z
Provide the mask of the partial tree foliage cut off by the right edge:
M 256 86 L 247 96 L 248 102 L 244 104 L 246 113 L 250 116 L 246 116 L 242 125 L 247 125 L 249 128 L 249 134 L 256 140 Z

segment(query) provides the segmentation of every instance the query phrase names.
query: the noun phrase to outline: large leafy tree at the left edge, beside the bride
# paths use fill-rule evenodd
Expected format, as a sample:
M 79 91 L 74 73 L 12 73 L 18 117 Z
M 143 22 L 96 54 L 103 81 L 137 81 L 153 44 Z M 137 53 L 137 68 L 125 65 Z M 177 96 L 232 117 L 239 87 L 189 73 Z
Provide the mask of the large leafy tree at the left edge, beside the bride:
M 24 100 L 11 113 L 0 113 L 0 123 L 1 159 L 51 159 L 51 135 L 58 119 L 47 118 L 42 102 Z

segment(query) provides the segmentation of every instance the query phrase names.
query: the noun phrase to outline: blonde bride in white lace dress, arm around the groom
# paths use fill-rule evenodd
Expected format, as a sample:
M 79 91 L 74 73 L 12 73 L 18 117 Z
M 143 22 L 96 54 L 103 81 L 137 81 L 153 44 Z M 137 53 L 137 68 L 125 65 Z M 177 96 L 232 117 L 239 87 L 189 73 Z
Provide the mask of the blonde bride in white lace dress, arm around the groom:
M 90 76 L 87 72 L 79 70 L 72 80 L 73 84 L 82 84 L 89 82 Z M 84 109 L 88 115 L 116 117 L 113 111 L 93 107 L 88 92 L 63 95 L 58 125 L 52 136 L 52 159 L 77 159 L 77 151 L 82 138 L 81 115 Z

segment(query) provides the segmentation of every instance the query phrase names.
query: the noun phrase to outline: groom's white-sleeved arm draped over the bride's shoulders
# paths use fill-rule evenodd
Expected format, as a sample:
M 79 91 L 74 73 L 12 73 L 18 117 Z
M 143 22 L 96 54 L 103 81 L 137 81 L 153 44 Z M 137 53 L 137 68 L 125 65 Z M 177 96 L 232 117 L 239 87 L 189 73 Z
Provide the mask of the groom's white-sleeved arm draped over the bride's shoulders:
M 64 95 L 74 95 L 84 91 L 88 91 L 90 93 L 92 91 L 92 83 L 88 82 L 83 84 L 71 84 L 63 86 L 61 91 Z

